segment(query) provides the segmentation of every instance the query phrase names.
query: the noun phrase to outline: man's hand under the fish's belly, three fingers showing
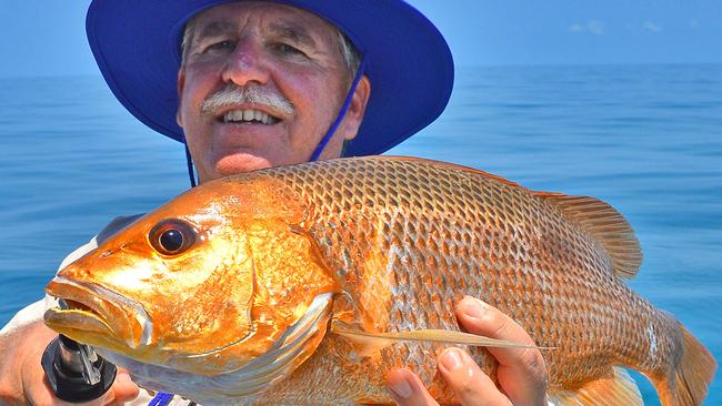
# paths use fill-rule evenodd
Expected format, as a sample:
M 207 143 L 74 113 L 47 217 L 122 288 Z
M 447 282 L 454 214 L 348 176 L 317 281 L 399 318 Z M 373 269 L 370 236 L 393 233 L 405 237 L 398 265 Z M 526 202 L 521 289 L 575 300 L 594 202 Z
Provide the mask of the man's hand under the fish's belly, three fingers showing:
M 469 333 L 534 345 L 519 324 L 477 298 L 464 297 L 457 307 L 457 317 Z M 462 405 L 546 405 L 549 375 L 539 349 L 488 349 L 499 362 L 497 378 L 501 390 L 465 352 L 447 348 L 439 356 L 439 372 Z M 387 384 L 401 406 L 438 405 L 409 369 L 391 371 Z

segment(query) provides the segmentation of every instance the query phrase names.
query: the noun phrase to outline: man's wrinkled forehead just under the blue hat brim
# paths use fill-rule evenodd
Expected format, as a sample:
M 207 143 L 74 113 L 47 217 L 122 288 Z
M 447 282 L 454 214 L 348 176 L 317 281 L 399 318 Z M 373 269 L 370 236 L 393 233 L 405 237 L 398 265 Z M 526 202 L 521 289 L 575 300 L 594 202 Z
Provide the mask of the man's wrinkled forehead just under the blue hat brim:
M 334 34 L 337 29 L 309 11 L 269 1 L 239 1 L 214 6 L 192 19 L 198 37 L 220 34 L 241 29 L 249 21 L 263 29 L 304 42 L 312 37 Z

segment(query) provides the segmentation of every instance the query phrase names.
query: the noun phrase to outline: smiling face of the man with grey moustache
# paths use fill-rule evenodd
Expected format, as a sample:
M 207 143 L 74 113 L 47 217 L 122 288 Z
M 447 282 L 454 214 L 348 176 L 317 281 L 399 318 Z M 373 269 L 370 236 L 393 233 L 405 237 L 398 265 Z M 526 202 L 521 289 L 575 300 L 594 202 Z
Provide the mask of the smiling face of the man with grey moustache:
M 308 161 L 351 79 L 337 30 L 310 12 L 238 2 L 199 14 L 178 77 L 178 122 L 201 182 Z M 261 98 L 213 103 L 213 95 L 229 87 Z M 343 141 L 355 136 L 369 92 L 363 78 L 322 159 L 340 156 Z

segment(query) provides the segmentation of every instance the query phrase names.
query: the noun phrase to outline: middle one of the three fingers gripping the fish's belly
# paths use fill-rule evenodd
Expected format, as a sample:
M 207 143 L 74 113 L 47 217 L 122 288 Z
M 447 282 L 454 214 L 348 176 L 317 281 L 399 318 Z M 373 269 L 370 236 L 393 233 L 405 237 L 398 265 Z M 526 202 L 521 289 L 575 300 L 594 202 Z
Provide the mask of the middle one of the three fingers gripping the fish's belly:
M 439 372 L 463 406 L 511 406 L 507 396 L 460 348 L 447 348 L 441 353 Z

